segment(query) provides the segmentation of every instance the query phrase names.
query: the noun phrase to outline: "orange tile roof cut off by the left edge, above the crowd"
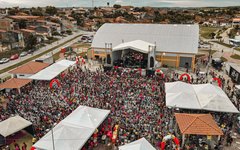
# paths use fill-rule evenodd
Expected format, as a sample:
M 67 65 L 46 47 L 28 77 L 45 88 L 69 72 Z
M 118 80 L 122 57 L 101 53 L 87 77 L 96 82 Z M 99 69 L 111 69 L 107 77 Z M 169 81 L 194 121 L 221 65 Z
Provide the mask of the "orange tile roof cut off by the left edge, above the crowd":
M 24 85 L 30 83 L 32 80 L 30 79 L 19 79 L 19 78 L 11 78 L 4 83 L 0 84 L 0 89 L 19 89 Z

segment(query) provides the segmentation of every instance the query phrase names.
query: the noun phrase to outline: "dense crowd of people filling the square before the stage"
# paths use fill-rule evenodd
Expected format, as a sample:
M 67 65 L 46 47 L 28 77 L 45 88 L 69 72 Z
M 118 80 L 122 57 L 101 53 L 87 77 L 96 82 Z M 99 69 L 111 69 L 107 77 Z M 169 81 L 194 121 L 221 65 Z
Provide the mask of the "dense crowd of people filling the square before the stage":
M 91 137 L 83 149 L 91 149 L 101 141 L 124 145 L 140 137 L 159 147 L 164 136 L 174 133 L 174 111 L 177 111 L 165 105 L 164 83 L 176 81 L 178 76 L 177 73 L 141 76 L 137 71 L 120 68 L 91 72 L 77 66 L 58 77 L 60 87 L 50 89 L 49 82 L 34 81 L 23 87 L 21 93 L 4 93 L 8 103 L 6 108 L 0 108 L 0 121 L 18 114 L 33 123 L 35 137 L 41 138 L 54 123 L 84 105 L 108 109 L 111 113 L 98 128 L 97 137 L 96 134 Z M 233 120 L 228 114 L 212 114 L 219 125 L 225 125 L 228 134 Z M 116 125 L 118 137 L 112 141 Z

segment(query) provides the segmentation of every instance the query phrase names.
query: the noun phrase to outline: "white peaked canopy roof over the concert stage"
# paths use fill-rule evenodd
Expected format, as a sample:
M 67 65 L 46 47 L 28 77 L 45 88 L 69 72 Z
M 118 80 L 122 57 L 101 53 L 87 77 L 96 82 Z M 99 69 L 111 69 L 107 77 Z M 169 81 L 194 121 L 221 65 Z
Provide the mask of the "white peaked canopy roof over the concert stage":
M 132 49 L 141 53 L 149 53 L 153 50 L 154 44 L 142 40 L 135 40 L 131 42 L 121 43 L 113 48 L 113 51 Z

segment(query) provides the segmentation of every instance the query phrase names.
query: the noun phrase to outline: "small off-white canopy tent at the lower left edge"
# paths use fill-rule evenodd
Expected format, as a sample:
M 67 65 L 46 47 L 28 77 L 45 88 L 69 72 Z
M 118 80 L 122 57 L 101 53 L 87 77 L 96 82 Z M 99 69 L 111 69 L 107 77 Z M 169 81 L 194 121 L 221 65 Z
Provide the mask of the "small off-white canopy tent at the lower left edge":
M 32 123 L 30 121 L 27 121 L 20 116 L 10 117 L 0 122 L 0 134 L 3 137 L 7 137 L 31 125 Z

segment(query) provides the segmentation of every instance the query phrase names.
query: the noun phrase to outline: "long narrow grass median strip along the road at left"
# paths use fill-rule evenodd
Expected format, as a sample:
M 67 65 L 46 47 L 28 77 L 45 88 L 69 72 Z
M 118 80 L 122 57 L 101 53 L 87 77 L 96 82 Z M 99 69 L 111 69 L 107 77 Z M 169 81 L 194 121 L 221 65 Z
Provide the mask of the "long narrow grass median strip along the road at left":
M 9 70 L 12 70 L 13 68 L 16 68 L 16 67 L 18 67 L 18 66 L 21 66 L 21 65 L 23 65 L 23 64 L 25 64 L 25 63 L 27 63 L 27 62 L 29 62 L 29 61 L 31 61 L 31 60 L 34 60 L 34 59 L 36 59 L 36 58 L 38 58 L 38 57 L 41 57 L 42 55 L 47 54 L 47 53 L 53 51 L 54 49 L 59 48 L 59 47 L 65 45 L 66 43 L 68 43 L 68 42 L 70 42 L 70 41 L 72 41 L 72 40 L 74 40 L 74 39 L 76 39 L 76 38 L 78 38 L 78 37 L 80 37 L 80 36 L 81 36 L 81 35 L 78 35 L 78 36 L 76 36 L 76 37 L 74 37 L 74 38 L 72 38 L 72 39 L 70 39 L 70 40 L 68 40 L 68 41 L 66 41 L 66 42 L 64 42 L 64 43 L 62 43 L 62 44 L 59 44 L 59 45 L 57 45 L 57 46 L 54 46 L 53 48 L 51 48 L 51 49 L 49 49 L 49 50 L 47 50 L 47 51 L 45 51 L 45 52 L 42 52 L 42 53 L 40 53 L 40 54 L 38 54 L 38 55 L 36 55 L 36 56 L 33 56 L 33 57 L 28 58 L 28 59 L 26 59 L 26 60 L 24 60 L 24 61 L 21 61 L 21 62 L 15 64 L 15 65 L 12 65 L 12 66 L 9 66 L 9 67 L 7 67 L 7 68 L 4 68 L 4 69 L 0 70 L 0 74 L 2 74 L 2 73 L 4 73 L 4 72 L 7 72 L 7 71 L 9 71 Z

